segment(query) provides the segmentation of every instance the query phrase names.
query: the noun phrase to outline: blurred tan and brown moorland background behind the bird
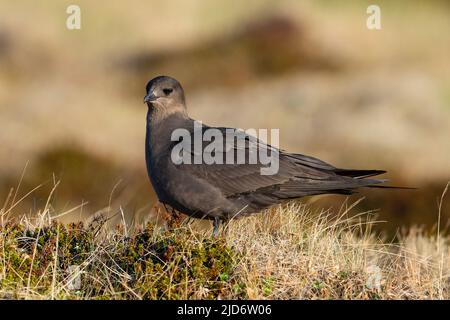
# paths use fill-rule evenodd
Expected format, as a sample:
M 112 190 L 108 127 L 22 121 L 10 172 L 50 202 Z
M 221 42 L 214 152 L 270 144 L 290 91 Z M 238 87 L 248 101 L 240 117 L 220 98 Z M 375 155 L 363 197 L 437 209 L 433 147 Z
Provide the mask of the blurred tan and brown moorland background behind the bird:
M 70 4 L 81 30 L 66 28 Z M 366 27 L 370 4 L 381 30 Z M 64 218 L 107 207 L 148 218 L 142 101 L 164 74 L 204 123 L 280 128 L 283 149 L 418 187 L 348 201 L 365 196 L 357 211 L 378 210 L 390 235 L 433 230 L 450 180 L 449 34 L 450 3 L 437 0 L 2 1 L 0 199 L 42 184 L 14 208 L 34 214 L 60 181 L 55 215 L 85 203 Z M 320 210 L 345 197 L 305 201 Z

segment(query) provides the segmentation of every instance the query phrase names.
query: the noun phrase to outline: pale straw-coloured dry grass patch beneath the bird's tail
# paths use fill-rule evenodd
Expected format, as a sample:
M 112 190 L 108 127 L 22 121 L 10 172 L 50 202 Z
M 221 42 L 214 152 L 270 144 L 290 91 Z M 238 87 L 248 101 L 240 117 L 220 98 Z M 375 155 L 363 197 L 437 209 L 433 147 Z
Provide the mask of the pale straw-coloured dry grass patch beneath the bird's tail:
M 230 239 L 245 257 L 240 269 L 248 296 L 448 299 L 448 239 L 437 242 L 413 229 L 398 243 L 386 244 L 370 232 L 370 217 L 349 218 L 344 210 L 331 219 L 291 205 L 234 224 Z M 270 286 L 261 287 L 267 281 Z

